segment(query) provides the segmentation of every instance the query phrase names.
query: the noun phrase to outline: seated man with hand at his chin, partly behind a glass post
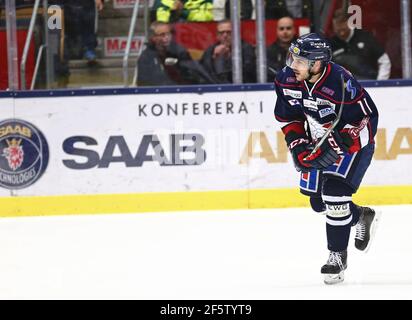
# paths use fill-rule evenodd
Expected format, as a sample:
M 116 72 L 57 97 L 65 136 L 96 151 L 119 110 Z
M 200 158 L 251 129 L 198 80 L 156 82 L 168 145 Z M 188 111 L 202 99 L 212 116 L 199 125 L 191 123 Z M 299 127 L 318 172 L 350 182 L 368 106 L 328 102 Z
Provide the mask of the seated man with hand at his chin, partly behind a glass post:
M 228 20 L 217 24 L 217 43 L 204 52 L 200 63 L 215 83 L 232 83 L 232 24 Z M 256 82 L 255 49 L 242 41 L 243 82 Z

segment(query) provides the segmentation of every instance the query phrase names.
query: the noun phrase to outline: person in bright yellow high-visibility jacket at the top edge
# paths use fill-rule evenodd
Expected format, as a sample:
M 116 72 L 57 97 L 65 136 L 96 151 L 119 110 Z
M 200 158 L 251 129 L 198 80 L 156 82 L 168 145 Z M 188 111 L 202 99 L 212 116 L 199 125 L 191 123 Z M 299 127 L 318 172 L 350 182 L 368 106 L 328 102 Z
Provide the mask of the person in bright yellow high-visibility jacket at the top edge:
M 213 0 L 155 0 L 152 21 L 213 21 Z

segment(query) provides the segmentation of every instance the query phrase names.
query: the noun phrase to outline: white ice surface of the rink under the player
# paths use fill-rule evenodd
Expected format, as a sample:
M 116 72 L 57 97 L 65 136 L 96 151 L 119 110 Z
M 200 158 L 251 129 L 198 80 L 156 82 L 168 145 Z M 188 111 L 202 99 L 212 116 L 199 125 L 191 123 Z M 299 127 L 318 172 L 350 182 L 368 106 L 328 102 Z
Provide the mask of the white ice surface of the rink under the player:
M 412 205 L 326 286 L 325 217 L 310 209 L 0 219 L 1 299 L 412 299 Z

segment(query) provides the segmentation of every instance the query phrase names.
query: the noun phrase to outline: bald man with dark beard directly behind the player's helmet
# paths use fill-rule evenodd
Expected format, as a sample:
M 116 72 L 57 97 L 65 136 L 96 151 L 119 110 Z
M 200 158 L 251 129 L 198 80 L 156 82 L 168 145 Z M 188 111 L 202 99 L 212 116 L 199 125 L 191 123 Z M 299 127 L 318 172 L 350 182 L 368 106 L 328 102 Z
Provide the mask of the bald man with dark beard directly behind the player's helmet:
M 278 20 L 276 41 L 266 51 L 269 82 L 273 82 L 276 74 L 286 65 L 286 56 L 290 44 L 295 39 L 296 30 L 293 18 L 286 16 Z

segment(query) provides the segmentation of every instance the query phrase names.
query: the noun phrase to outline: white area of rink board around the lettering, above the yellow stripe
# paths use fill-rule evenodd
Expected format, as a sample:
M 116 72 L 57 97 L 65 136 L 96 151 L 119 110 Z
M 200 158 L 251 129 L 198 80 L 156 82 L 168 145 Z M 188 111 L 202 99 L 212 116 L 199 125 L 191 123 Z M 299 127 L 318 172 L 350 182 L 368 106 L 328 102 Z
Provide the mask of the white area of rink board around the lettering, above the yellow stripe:
M 379 128 L 386 130 L 389 150 L 397 131 L 412 130 L 412 89 L 368 88 L 368 92 L 380 111 Z M 296 187 L 298 184 L 299 176 L 290 157 L 287 156 L 287 162 L 282 162 L 282 155 L 278 154 L 280 125 L 273 116 L 274 91 L 19 98 L 14 100 L 14 110 L 10 110 L 8 100 L 0 100 L 3 106 L 1 118 L 14 116 L 34 124 L 45 135 L 50 149 L 49 165 L 44 175 L 32 186 L 16 191 L 17 195 L 247 190 Z M 172 107 L 177 104 L 178 115 L 173 112 L 167 115 L 167 104 Z M 146 108 L 143 109 L 144 105 Z M 154 106 L 153 113 L 151 106 Z M 160 106 L 163 107 L 162 114 Z M 272 162 L 268 162 L 269 157 L 251 159 L 249 165 L 241 163 L 252 132 L 265 134 L 273 153 Z M 160 166 L 157 161 L 146 161 L 136 166 L 133 158 L 144 135 L 156 135 L 170 159 L 171 134 L 200 135 L 204 143 L 198 149 L 201 151 L 199 154 L 205 151 L 205 161 L 185 166 Z M 75 136 L 88 137 L 97 143 L 76 143 L 74 146 L 90 150 L 89 154 L 97 153 L 99 158 L 102 158 L 109 137 L 125 142 L 130 154 L 128 157 L 124 153 L 122 155 L 117 145 L 109 154 L 117 157 L 118 162 L 111 162 L 108 167 L 106 164 L 105 168 L 97 168 L 96 164 L 90 169 L 71 169 L 64 160 L 86 162 L 84 156 L 69 155 L 64 151 L 64 142 Z M 193 145 L 193 141 L 181 142 L 180 145 L 184 143 Z M 279 143 L 283 144 L 283 138 Z M 379 145 L 379 141 L 377 143 Z M 255 152 L 259 152 L 261 144 L 262 141 L 257 143 Z M 67 143 L 65 145 L 67 147 Z M 412 163 L 410 136 L 409 141 L 406 137 L 403 139 L 402 148 L 407 154 L 394 160 L 375 160 L 364 184 L 411 184 L 412 172 L 408 170 Z M 151 146 L 146 149 L 148 156 L 154 154 Z M 184 155 L 190 159 L 193 153 Z M 125 164 L 126 158 L 130 160 L 129 167 Z M 273 162 L 273 159 L 280 162 Z M 0 195 L 8 194 L 7 190 L 0 192 Z

